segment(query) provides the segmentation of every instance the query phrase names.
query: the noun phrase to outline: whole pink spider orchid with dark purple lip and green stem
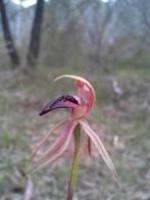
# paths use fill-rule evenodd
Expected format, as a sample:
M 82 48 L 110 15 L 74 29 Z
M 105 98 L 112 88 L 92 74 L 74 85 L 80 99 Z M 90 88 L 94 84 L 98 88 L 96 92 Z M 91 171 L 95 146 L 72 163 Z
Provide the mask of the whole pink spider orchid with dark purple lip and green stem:
M 47 150 L 41 153 L 35 162 L 34 170 L 43 168 L 63 156 L 70 145 L 73 145 L 72 139 L 74 140 L 74 155 L 67 196 L 67 200 L 72 200 L 77 181 L 82 144 L 84 147 L 86 144 L 89 155 L 91 155 L 91 145 L 93 144 L 115 179 L 117 179 L 117 173 L 102 141 L 86 119 L 95 103 L 95 90 L 93 86 L 86 79 L 74 75 L 62 75 L 55 80 L 60 80 L 62 78 L 70 78 L 75 81 L 75 87 L 77 89 L 76 94 L 63 95 L 50 101 L 41 110 L 39 115 L 42 116 L 56 109 L 67 108 L 69 116 L 67 120 L 57 124 L 39 143 L 37 143 L 37 145 L 35 145 L 32 157 L 37 157 L 38 152 L 43 145 L 49 141 L 53 132 L 59 132 L 59 137 Z

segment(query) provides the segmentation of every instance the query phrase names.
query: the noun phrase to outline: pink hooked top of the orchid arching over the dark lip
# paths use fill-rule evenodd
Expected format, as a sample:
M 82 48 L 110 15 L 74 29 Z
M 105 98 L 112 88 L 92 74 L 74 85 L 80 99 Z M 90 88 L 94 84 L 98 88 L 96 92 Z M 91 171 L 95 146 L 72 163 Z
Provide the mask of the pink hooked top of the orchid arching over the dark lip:
M 84 78 L 75 75 L 62 75 L 55 79 L 55 81 L 62 78 L 71 78 L 76 80 L 77 88 L 79 89 L 79 93 L 85 103 L 88 105 L 88 111 L 90 111 L 95 103 L 95 90 L 93 86 Z

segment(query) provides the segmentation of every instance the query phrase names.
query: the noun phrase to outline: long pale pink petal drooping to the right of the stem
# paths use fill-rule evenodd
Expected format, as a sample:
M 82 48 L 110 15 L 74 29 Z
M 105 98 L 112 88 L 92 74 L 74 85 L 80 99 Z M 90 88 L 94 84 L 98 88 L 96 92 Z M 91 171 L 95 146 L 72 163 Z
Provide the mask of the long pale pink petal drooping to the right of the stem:
M 105 149 L 103 143 L 101 142 L 100 138 L 91 129 L 91 127 L 88 125 L 88 123 L 85 120 L 80 121 L 80 124 L 81 124 L 83 130 L 85 131 L 85 133 L 91 138 L 91 140 L 94 143 L 95 147 L 97 148 L 98 152 L 100 153 L 103 160 L 105 161 L 107 167 L 112 172 L 114 179 L 118 182 L 118 175 L 117 175 L 116 169 L 113 165 L 113 162 L 111 161 L 111 158 L 109 157 L 109 155 L 107 153 L 107 150 Z

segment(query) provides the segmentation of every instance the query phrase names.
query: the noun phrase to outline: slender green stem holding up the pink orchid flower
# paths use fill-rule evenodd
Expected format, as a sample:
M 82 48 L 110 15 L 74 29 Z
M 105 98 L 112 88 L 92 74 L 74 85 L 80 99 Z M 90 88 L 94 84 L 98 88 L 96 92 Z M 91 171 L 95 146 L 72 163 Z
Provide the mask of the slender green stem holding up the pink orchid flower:
M 73 162 L 72 162 L 72 167 L 71 167 L 67 200 L 72 200 L 73 192 L 75 190 L 76 183 L 77 183 L 77 176 L 78 176 L 79 163 L 80 163 L 80 139 L 81 139 L 80 126 L 77 125 L 74 132 L 75 152 L 74 152 L 74 157 L 73 157 Z

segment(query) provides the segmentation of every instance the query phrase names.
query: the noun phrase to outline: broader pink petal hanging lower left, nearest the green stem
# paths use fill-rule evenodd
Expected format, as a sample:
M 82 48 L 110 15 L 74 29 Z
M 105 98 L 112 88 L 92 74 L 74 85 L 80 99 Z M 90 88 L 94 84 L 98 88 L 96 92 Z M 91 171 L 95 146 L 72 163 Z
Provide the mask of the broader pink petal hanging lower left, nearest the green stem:
M 61 157 L 66 151 L 66 149 L 69 146 L 69 143 L 71 142 L 72 133 L 77 123 L 72 121 L 67 125 L 68 126 L 65 129 L 66 132 L 62 133 L 64 137 L 61 137 L 61 139 L 57 140 L 56 143 L 54 143 L 54 145 L 42 155 L 42 157 L 36 163 L 36 166 L 33 169 L 34 171 L 45 167 L 49 163 L 54 162 L 56 159 Z

